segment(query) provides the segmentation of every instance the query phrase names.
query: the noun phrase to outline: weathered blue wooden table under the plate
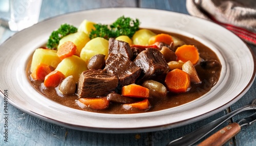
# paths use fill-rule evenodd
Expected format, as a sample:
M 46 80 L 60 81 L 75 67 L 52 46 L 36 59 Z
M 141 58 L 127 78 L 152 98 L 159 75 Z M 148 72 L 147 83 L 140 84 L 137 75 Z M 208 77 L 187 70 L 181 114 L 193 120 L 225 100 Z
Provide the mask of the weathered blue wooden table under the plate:
M 68 12 L 106 7 L 152 8 L 188 14 L 185 3 L 185 0 L 43 0 L 39 21 Z M 14 32 L 0 27 L 0 44 L 13 34 Z M 256 47 L 253 45 L 250 46 L 255 52 Z M 0 98 L 0 145 L 165 145 L 169 141 L 194 131 L 234 109 L 249 104 L 255 98 L 255 95 L 256 82 L 254 82 L 248 92 L 231 107 L 208 118 L 197 121 L 196 123 L 164 131 L 130 134 L 94 133 L 68 129 L 48 123 L 22 112 L 12 105 L 8 105 L 8 142 L 4 141 L 4 100 Z M 221 127 L 236 122 L 251 113 L 252 111 L 243 112 L 221 125 Z M 250 127 L 243 127 L 241 132 L 225 145 L 256 145 L 256 124 Z

